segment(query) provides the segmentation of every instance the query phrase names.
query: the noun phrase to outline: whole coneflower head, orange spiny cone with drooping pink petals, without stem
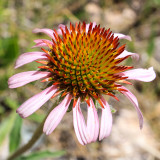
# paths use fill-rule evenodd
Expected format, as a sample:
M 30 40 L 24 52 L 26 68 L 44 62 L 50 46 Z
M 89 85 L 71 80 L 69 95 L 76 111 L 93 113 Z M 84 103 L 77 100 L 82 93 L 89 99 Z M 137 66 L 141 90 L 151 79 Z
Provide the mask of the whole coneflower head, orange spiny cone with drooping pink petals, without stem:
M 136 53 L 119 46 L 119 39 L 131 40 L 129 36 L 112 33 L 110 29 L 101 28 L 95 23 L 70 23 L 68 28 L 59 25 L 58 30 L 35 29 L 34 33 L 43 32 L 51 40 L 35 40 L 34 47 L 47 47 L 42 52 L 22 54 L 16 61 L 15 68 L 36 61 L 43 64 L 39 71 L 28 71 L 12 76 L 8 83 L 10 88 L 17 88 L 29 82 L 43 79 L 49 87 L 33 96 L 18 109 L 23 118 L 39 109 L 50 98 L 61 94 L 63 101 L 54 108 L 44 124 L 43 131 L 48 135 L 57 127 L 73 101 L 73 124 L 77 138 L 81 144 L 87 144 L 109 136 L 112 128 L 112 114 L 103 95 L 116 97 L 116 93 L 124 94 L 134 105 L 140 122 L 143 116 L 138 107 L 136 97 L 123 84 L 131 84 L 130 79 L 152 81 L 155 78 L 153 68 L 132 69 L 132 66 L 120 65 L 128 57 L 138 59 Z M 38 60 L 38 61 L 37 61 Z M 131 70 L 132 69 L 132 70 Z M 101 122 L 99 123 L 94 101 L 101 105 Z M 80 103 L 87 103 L 88 118 L 85 123 Z

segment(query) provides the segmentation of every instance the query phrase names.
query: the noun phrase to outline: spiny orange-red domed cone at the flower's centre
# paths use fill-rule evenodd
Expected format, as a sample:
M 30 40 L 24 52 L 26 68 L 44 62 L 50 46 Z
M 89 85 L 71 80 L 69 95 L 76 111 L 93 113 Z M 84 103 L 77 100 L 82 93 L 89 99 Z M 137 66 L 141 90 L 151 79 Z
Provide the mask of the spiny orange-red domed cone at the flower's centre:
M 100 28 L 93 23 L 86 31 L 86 24 L 79 23 L 75 27 L 70 24 L 70 30 L 65 26 L 62 35 L 54 30 L 53 45 L 48 45 L 49 61 L 39 61 L 45 64 L 39 68 L 51 71 L 52 76 L 46 81 L 57 84 L 60 90 L 71 93 L 75 99 L 88 102 L 89 97 L 100 99 L 100 94 L 114 96 L 114 91 L 124 90 L 118 82 L 126 82 L 127 77 L 117 73 L 131 69 L 130 66 L 118 65 L 128 58 L 118 56 L 124 51 L 125 45 L 118 47 L 119 38 L 110 29 Z M 115 97 L 115 96 L 114 96 Z

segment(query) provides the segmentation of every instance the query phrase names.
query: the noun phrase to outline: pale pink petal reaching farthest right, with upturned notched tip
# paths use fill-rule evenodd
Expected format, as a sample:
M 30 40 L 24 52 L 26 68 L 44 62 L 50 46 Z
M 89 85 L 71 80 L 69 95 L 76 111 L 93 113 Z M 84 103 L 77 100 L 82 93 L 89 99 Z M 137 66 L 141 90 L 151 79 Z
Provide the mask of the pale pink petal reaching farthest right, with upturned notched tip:
M 127 79 L 139 80 L 144 82 L 150 82 L 156 78 L 153 67 L 150 67 L 149 69 L 132 69 L 119 73 L 119 75 L 128 77 Z

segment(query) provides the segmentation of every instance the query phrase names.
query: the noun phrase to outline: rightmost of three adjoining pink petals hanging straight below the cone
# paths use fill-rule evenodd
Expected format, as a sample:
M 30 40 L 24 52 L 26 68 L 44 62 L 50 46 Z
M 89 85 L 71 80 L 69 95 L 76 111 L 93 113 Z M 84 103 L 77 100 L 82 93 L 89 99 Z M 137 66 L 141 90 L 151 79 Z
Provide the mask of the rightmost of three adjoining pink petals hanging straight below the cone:
M 104 108 L 102 108 L 101 115 L 101 127 L 99 140 L 101 141 L 103 138 L 106 138 L 110 135 L 112 129 L 112 113 L 107 101 L 101 96 L 102 103 Z

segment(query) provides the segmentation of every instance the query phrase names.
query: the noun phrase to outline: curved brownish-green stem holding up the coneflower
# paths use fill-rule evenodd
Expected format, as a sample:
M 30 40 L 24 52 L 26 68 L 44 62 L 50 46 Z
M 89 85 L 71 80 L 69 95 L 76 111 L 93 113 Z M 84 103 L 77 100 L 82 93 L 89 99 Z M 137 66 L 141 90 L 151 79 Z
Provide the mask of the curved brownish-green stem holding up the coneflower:
M 53 107 L 49 110 L 48 114 L 50 113 L 50 111 L 57 105 L 57 102 L 54 103 Z M 48 116 L 47 114 L 47 116 Z M 28 149 L 30 149 L 35 142 L 41 137 L 41 135 L 43 134 L 43 125 L 44 122 L 47 118 L 47 116 L 44 118 L 44 120 L 42 121 L 42 123 L 39 125 L 39 127 L 36 129 L 36 131 L 34 132 L 32 138 L 29 140 L 29 142 L 27 144 L 25 144 L 24 146 L 22 146 L 21 148 L 19 148 L 17 151 L 15 151 L 11 156 L 9 156 L 7 158 L 7 160 L 13 160 L 17 157 L 19 157 L 20 155 L 22 155 L 24 152 L 26 152 Z

